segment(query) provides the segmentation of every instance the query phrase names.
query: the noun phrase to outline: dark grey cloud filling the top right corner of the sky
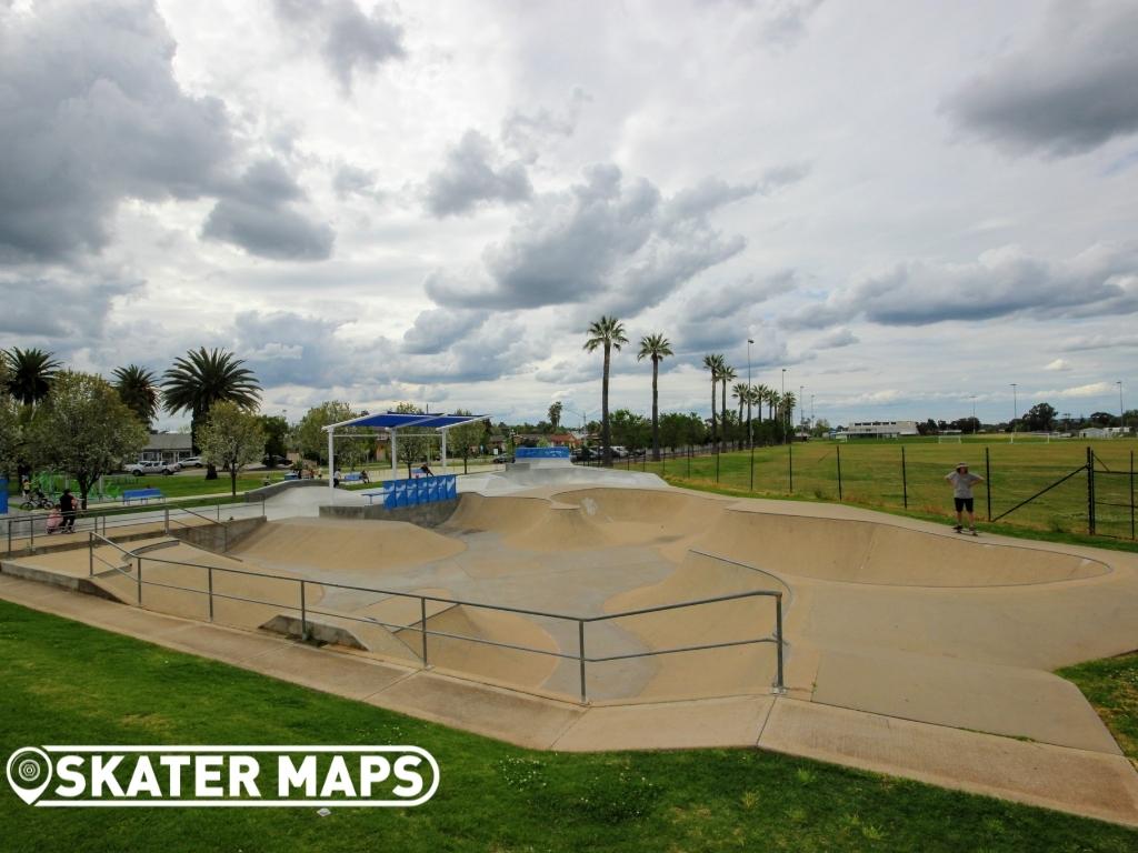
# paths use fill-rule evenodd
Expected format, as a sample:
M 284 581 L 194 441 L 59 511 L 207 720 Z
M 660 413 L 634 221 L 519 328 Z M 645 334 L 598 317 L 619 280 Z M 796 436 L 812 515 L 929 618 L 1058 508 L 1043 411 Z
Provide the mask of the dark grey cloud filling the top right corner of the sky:
M 1082 154 L 1138 131 L 1138 5 L 1056 2 L 1023 49 L 943 105 L 963 130 L 1013 152 Z

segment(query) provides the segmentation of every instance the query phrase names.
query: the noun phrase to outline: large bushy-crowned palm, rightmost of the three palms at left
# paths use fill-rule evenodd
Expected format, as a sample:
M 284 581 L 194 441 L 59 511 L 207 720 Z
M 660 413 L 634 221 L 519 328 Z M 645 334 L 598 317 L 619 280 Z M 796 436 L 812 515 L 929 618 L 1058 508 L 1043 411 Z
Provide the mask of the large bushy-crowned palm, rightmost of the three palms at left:
M 163 374 L 162 403 L 171 414 L 190 413 L 190 444 L 195 450 L 198 426 L 209 415 L 213 404 L 229 400 L 241 408 L 255 409 L 261 401 L 261 384 L 242 364 L 232 353 L 200 347 L 175 358 Z M 211 465 L 206 479 L 217 479 L 217 469 Z

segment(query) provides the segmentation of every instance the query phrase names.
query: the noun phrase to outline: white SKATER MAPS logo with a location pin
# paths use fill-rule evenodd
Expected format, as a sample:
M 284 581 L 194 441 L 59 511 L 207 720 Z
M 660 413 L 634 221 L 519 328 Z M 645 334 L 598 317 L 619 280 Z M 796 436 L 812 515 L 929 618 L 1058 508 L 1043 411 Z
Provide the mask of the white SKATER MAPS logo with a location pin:
M 36 808 L 406 808 L 439 770 L 418 746 L 25 746 L 6 776 Z

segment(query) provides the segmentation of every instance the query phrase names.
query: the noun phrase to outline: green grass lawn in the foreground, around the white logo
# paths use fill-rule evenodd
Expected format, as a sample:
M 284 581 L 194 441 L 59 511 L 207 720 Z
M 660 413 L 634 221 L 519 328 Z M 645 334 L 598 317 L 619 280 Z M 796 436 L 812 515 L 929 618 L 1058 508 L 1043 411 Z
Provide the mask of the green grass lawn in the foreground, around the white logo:
M 538 753 L 0 602 L 2 755 L 39 744 L 415 744 L 412 810 L 32 809 L 11 851 L 1114 851 L 1138 831 L 756 750 Z

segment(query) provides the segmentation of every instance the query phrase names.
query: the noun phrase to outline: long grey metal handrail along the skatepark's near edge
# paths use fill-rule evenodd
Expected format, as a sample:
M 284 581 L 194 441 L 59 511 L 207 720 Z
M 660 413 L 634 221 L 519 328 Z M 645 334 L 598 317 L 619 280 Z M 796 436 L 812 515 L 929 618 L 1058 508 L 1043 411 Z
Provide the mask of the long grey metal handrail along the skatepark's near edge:
M 757 644 L 761 644 L 761 643 L 773 643 L 773 644 L 775 644 L 775 647 L 776 647 L 776 664 L 777 664 L 777 674 L 776 674 L 775 684 L 773 685 L 773 690 L 775 693 L 780 693 L 780 694 L 781 693 L 785 693 L 785 682 L 784 682 L 784 676 L 783 676 L 783 660 L 784 660 L 784 644 L 785 644 L 785 640 L 783 638 L 783 613 L 782 613 L 783 593 L 780 591 L 780 590 L 754 589 L 754 590 L 749 590 L 749 591 L 743 591 L 743 593 L 732 593 L 732 594 L 728 594 L 728 595 L 712 596 L 712 597 L 708 597 L 708 598 L 698 598 L 698 599 L 692 599 L 692 601 L 686 601 L 686 602 L 676 602 L 676 603 L 673 603 L 673 604 L 662 604 L 662 605 L 657 605 L 657 606 L 653 606 L 653 607 L 640 607 L 640 608 L 636 608 L 636 610 L 622 611 L 620 613 L 604 613 L 604 614 L 601 614 L 601 615 L 584 616 L 584 615 L 572 615 L 572 614 L 566 614 L 566 613 L 551 613 L 549 611 L 531 610 L 531 608 L 528 608 L 528 607 L 513 607 L 513 606 L 509 606 L 509 605 L 488 604 L 486 602 L 473 602 L 473 601 L 463 599 L 463 598 L 448 598 L 448 597 L 445 597 L 445 596 L 437 596 L 437 595 L 423 595 L 423 594 L 419 594 L 419 593 L 406 593 L 406 591 L 397 590 L 397 589 L 379 589 L 379 588 L 376 588 L 376 587 L 362 587 L 362 586 L 355 586 L 355 585 L 351 585 L 351 583 L 337 583 L 335 581 L 318 581 L 318 580 L 311 580 L 308 578 L 295 578 L 295 577 L 290 577 L 290 575 L 275 574 L 275 573 L 271 573 L 271 572 L 257 572 L 257 571 L 250 571 L 250 570 L 247 570 L 247 569 L 233 569 L 231 566 L 215 566 L 215 565 L 208 565 L 208 564 L 204 564 L 204 563 L 191 563 L 191 562 L 185 562 L 185 561 L 180 561 L 180 560 L 164 560 L 162 557 L 143 556 L 142 554 L 140 554 L 138 552 L 127 550 L 125 548 L 122 548 L 121 546 L 118 546 L 117 544 L 110 541 L 106 537 L 99 536 L 98 533 L 94 533 L 94 532 L 92 532 L 91 536 L 90 536 L 90 538 L 89 538 L 89 547 L 91 548 L 91 554 L 92 554 L 92 556 L 91 556 L 91 565 L 92 565 L 91 572 L 92 572 L 92 575 L 93 575 L 94 540 L 96 539 L 99 539 L 101 541 L 105 541 L 105 543 L 114 546 L 122 554 L 124 554 L 125 556 L 127 556 L 131 560 L 135 561 L 137 574 L 135 574 L 134 580 L 135 580 L 137 590 L 138 590 L 137 591 L 138 604 L 140 606 L 142 604 L 142 587 L 143 586 L 154 586 L 154 587 L 159 587 L 159 588 L 163 588 L 163 589 L 175 589 L 175 590 L 183 591 L 183 593 L 193 593 L 193 594 L 197 594 L 197 595 L 205 595 L 205 596 L 208 596 L 209 621 L 211 622 L 214 620 L 214 599 L 215 598 L 221 598 L 221 599 L 224 599 L 224 601 L 244 602 L 244 603 L 247 603 L 247 604 L 262 604 L 262 605 L 267 605 L 267 606 L 271 606 L 271 607 L 281 607 L 281 608 L 287 610 L 287 611 L 299 612 L 299 614 L 300 614 L 300 636 L 303 638 L 305 638 L 305 639 L 307 639 L 308 636 L 310 636 L 310 633 L 308 633 L 308 621 L 310 621 L 310 616 L 311 615 L 321 615 L 321 616 L 328 616 L 328 618 L 337 619 L 337 620 L 347 620 L 347 621 L 351 621 L 351 622 L 361 622 L 363 624 L 379 626 L 379 627 L 386 628 L 388 630 L 410 630 L 410 631 L 417 632 L 421 637 L 421 662 L 422 662 L 422 666 L 424 669 L 429 665 L 428 664 L 428 657 L 427 657 L 427 638 L 428 637 L 444 637 L 444 638 L 447 638 L 447 639 L 464 640 L 464 641 L 469 641 L 469 643 L 477 643 L 477 644 L 480 644 L 480 645 L 493 646 L 493 647 L 497 647 L 497 648 L 508 648 L 508 649 L 512 649 L 512 651 L 517 651 L 517 652 L 525 652 L 525 653 L 529 653 L 529 654 L 541 654 L 541 655 L 546 655 L 546 656 L 550 656 L 550 657 L 558 657 L 558 659 L 561 659 L 561 660 L 577 661 L 578 664 L 579 664 L 579 670 L 580 670 L 580 702 L 582 702 L 582 704 L 587 704 L 587 702 L 588 702 L 587 671 L 586 671 L 586 666 L 589 663 L 607 663 L 607 662 L 611 662 L 611 661 L 625 661 L 625 660 L 632 660 L 632 659 L 636 659 L 636 657 L 654 657 L 654 656 L 666 655 L 666 654 L 679 654 L 679 653 L 686 653 L 686 652 L 703 652 L 703 651 L 710 651 L 710 649 L 716 649 L 716 648 L 728 648 L 728 647 L 734 647 L 734 646 L 757 645 Z M 720 560 L 723 562 L 731 563 L 733 565 L 739 565 L 739 566 L 742 566 L 742 568 L 745 568 L 745 569 L 750 569 L 752 571 L 761 571 L 761 570 L 756 569 L 754 566 L 748 565 L 745 563 L 740 563 L 737 561 L 728 560 L 726 557 L 719 557 L 719 556 L 714 555 L 714 554 L 707 554 L 706 552 L 700 552 L 700 550 L 694 550 L 693 549 L 693 553 L 700 554 L 701 556 L 710 557 L 712 560 Z M 163 583 L 160 581 L 143 580 L 142 579 L 142 561 L 143 561 L 143 558 L 150 561 L 151 563 L 162 563 L 162 564 L 165 564 L 165 565 L 176 565 L 176 566 L 189 568 L 189 569 L 204 569 L 207 572 L 207 588 L 206 589 L 195 589 L 192 587 L 182 587 L 182 586 L 178 586 L 178 585 L 173 585 L 173 583 Z M 101 561 L 101 558 L 100 558 L 100 561 Z M 101 562 L 106 563 L 106 561 L 101 561 Z M 107 565 L 110 565 L 110 564 L 107 563 Z M 112 566 L 112 569 L 114 571 L 118 572 L 119 574 L 123 574 L 124 577 L 130 577 L 129 571 L 124 571 L 121 566 Z M 261 598 L 248 598 L 248 597 L 245 597 L 245 596 L 228 595 L 225 593 L 215 591 L 214 590 L 214 582 L 213 582 L 213 573 L 217 572 L 217 571 L 220 571 L 220 572 L 226 572 L 226 573 L 230 573 L 230 574 L 244 574 L 244 575 L 248 575 L 248 577 L 256 577 L 256 578 L 262 578 L 262 579 L 265 579 L 265 580 L 282 580 L 282 581 L 288 581 L 288 582 L 292 582 L 292 583 L 298 583 L 299 585 L 299 606 L 297 606 L 295 604 L 286 604 L 286 603 L 281 603 L 281 602 L 270 602 L 270 601 L 265 601 L 265 599 L 261 599 Z M 419 602 L 420 620 L 419 620 L 419 622 L 412 622 L 411 624 L 399 624 L 399 623 L 395 623 L 395 622 L 385 622 L 382 620 L 376 619 L 374 616 L 366 616 L 366 618 L 363 618 L 363 616 L 353 616 L 353 615 L 348 615 L 348 614 L 345 614 L 345 613 L 332 613 L 332 612 L 329 612 L 329 611 L 322 611 L 322 610 L 315 610 L 315 608 L 308 607 L 307 606 L 306 587 L 307 587 L 307 585 L 313 585 L 313 583 L 316 585 L 318 587 L 321 587 L 322 589 L 345 589 L 345 590 L 357 591 L 357 593 L 370 593 L 370 594 L 373 594 L 373 595 L 384 595 L 384 596 L 390 596 L 390 597 L 415 599 L 415 601 Z M 723 643 L 708 643 L 708 644 L 700 644 L 700 645 L 694 645 L 694 646 L 678 646 L 678 647 L 673 647 L 673 648 L 651 649 L 651 651 L 646 651 L 646 652 L 632 652 L 632 653 L 618 654 L 618 655 L 593 656 L 593 655 L 587 655 L 586 652 L 585 652 L 585 626 L 587 626 L 589 623 L 593 623 L 593 622 L 604 622 L 604 621 L 611 621 L 613 619 L 642 616 L 642 615 L 650 614 L 650 613 L 660 613 L 660 612 L 665 612 L 665 611 L 681 610 L 681 608 L 686 608 L 686 607 L 696 607 L 696 606 L 702 606 L 702 605 L 708 605 L 708 604 L 718 604 L 718 603 L 723 603 L 723 602 L 740 601 L 740 599 L 744 599 L 744 598 L 758 598 L 758 597 L 767 597 L 767 598 L 774 598 L 775 599 L 775 630 L 774 630 L 773 633 L 766 635 L 764 637 L 758 637 L 758 638 L 752 638 L 752 639 L 744 639 L 744 640 L 728 640 L 728 641 L 723 641 Z M 533 646 L 520 646 L 520 645 L 516 645 L 516 644 L 511 644 L 511 643 L 501 643 L 498 640 L 486 639 L 485 637 L 472 637 L 470 635 L 452 633 L 450 631 L 431 630 L 431 629 L 429 629 L 427 627 L 427 602 L 436 602 L 436 603 L 439 603 L 439 604 L 451 604 L 451 605 L 462 605 L 462 606 L 467 606 L 467 607 L 478 607 L 478 608 L 489 610 L 489 611 L 496 611 L 496 612 L 501 612 L 501 613 L 516 613 L 516 614 L 519 614 L 519 615 L 538 616 L 538 618 L 543 618 L 543 619 L 558 619 L 558 620 L 562 620 L 562 621 L 566 621 L 566 622 L 576 622 L 577 623 L 577 630 L 578 630 L 578 647 L 577 647 L 577 653 L 576 654 L 571 654 L 571 653 L 561 652 L 561 651 L 550 651 L 550 649 L 545 649 L 545 648 L 535 648 Z

